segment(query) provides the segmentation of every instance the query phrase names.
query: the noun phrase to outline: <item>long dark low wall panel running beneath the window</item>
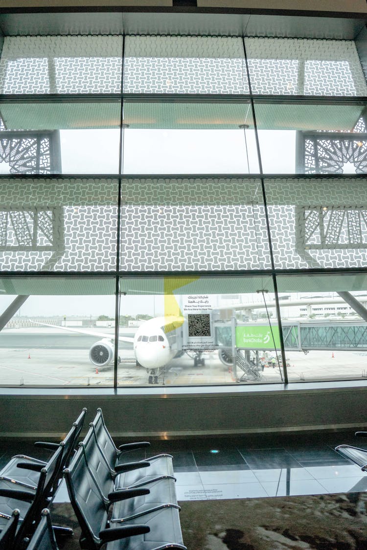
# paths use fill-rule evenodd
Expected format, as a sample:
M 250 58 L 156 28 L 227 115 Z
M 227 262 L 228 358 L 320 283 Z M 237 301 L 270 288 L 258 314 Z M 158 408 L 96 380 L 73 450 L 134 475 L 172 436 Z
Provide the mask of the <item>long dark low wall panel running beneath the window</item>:
M 194 395 L 6 395 L 0 437 L 60 437 L 86 406 L 120 437 L 194 436 L 367 426 L 367 388 Z

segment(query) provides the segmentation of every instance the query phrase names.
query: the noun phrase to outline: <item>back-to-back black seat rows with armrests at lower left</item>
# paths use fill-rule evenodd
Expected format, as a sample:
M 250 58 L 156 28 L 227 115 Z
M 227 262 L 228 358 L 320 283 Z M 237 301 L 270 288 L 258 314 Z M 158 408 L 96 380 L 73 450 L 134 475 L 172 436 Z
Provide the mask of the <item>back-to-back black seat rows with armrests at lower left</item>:
M 58 550 L 56 533 L 72 534 L 53 527 L 48 510 L 62 477 L 82 549 L 186 550 L 172 456 L 129 460 L 130 451 L 150 444 L 117 448 L 101 409 L 75 450 L 85 414 L 83 409 L 61 443 L 39 442 L 53 451 L 48 461 L 15 455 L 0 472 L 0 550 Z

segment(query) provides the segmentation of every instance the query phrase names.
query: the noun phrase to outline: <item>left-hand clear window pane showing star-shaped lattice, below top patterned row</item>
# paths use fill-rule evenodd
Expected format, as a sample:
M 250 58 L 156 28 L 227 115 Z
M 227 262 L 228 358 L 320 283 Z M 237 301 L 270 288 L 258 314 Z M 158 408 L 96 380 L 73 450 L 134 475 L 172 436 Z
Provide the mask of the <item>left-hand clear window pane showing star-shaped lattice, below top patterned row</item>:
M 120 103 L 0 103 L 3 174 L 113 174 Z

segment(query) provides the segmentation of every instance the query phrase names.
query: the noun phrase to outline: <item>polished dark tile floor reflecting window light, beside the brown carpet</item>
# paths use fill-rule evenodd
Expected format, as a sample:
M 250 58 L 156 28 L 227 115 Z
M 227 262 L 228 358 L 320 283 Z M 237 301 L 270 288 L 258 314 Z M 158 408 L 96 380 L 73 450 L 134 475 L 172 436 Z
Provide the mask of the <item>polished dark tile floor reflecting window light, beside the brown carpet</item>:
M 353 431 L 317 436 L 197 438 L 153 441 L 145 455 L 134 452 L 129 460 L 172 454 L 178 500 L 367 491 L 367 473 L 334 450 L 342 443 L 367 448 L 367 439 L 354 437 Z M 32 442 L 0 441 L 0 469 L 18 453 L 44 456 Z M 62 485 L 56 501 L 67 499 Z

